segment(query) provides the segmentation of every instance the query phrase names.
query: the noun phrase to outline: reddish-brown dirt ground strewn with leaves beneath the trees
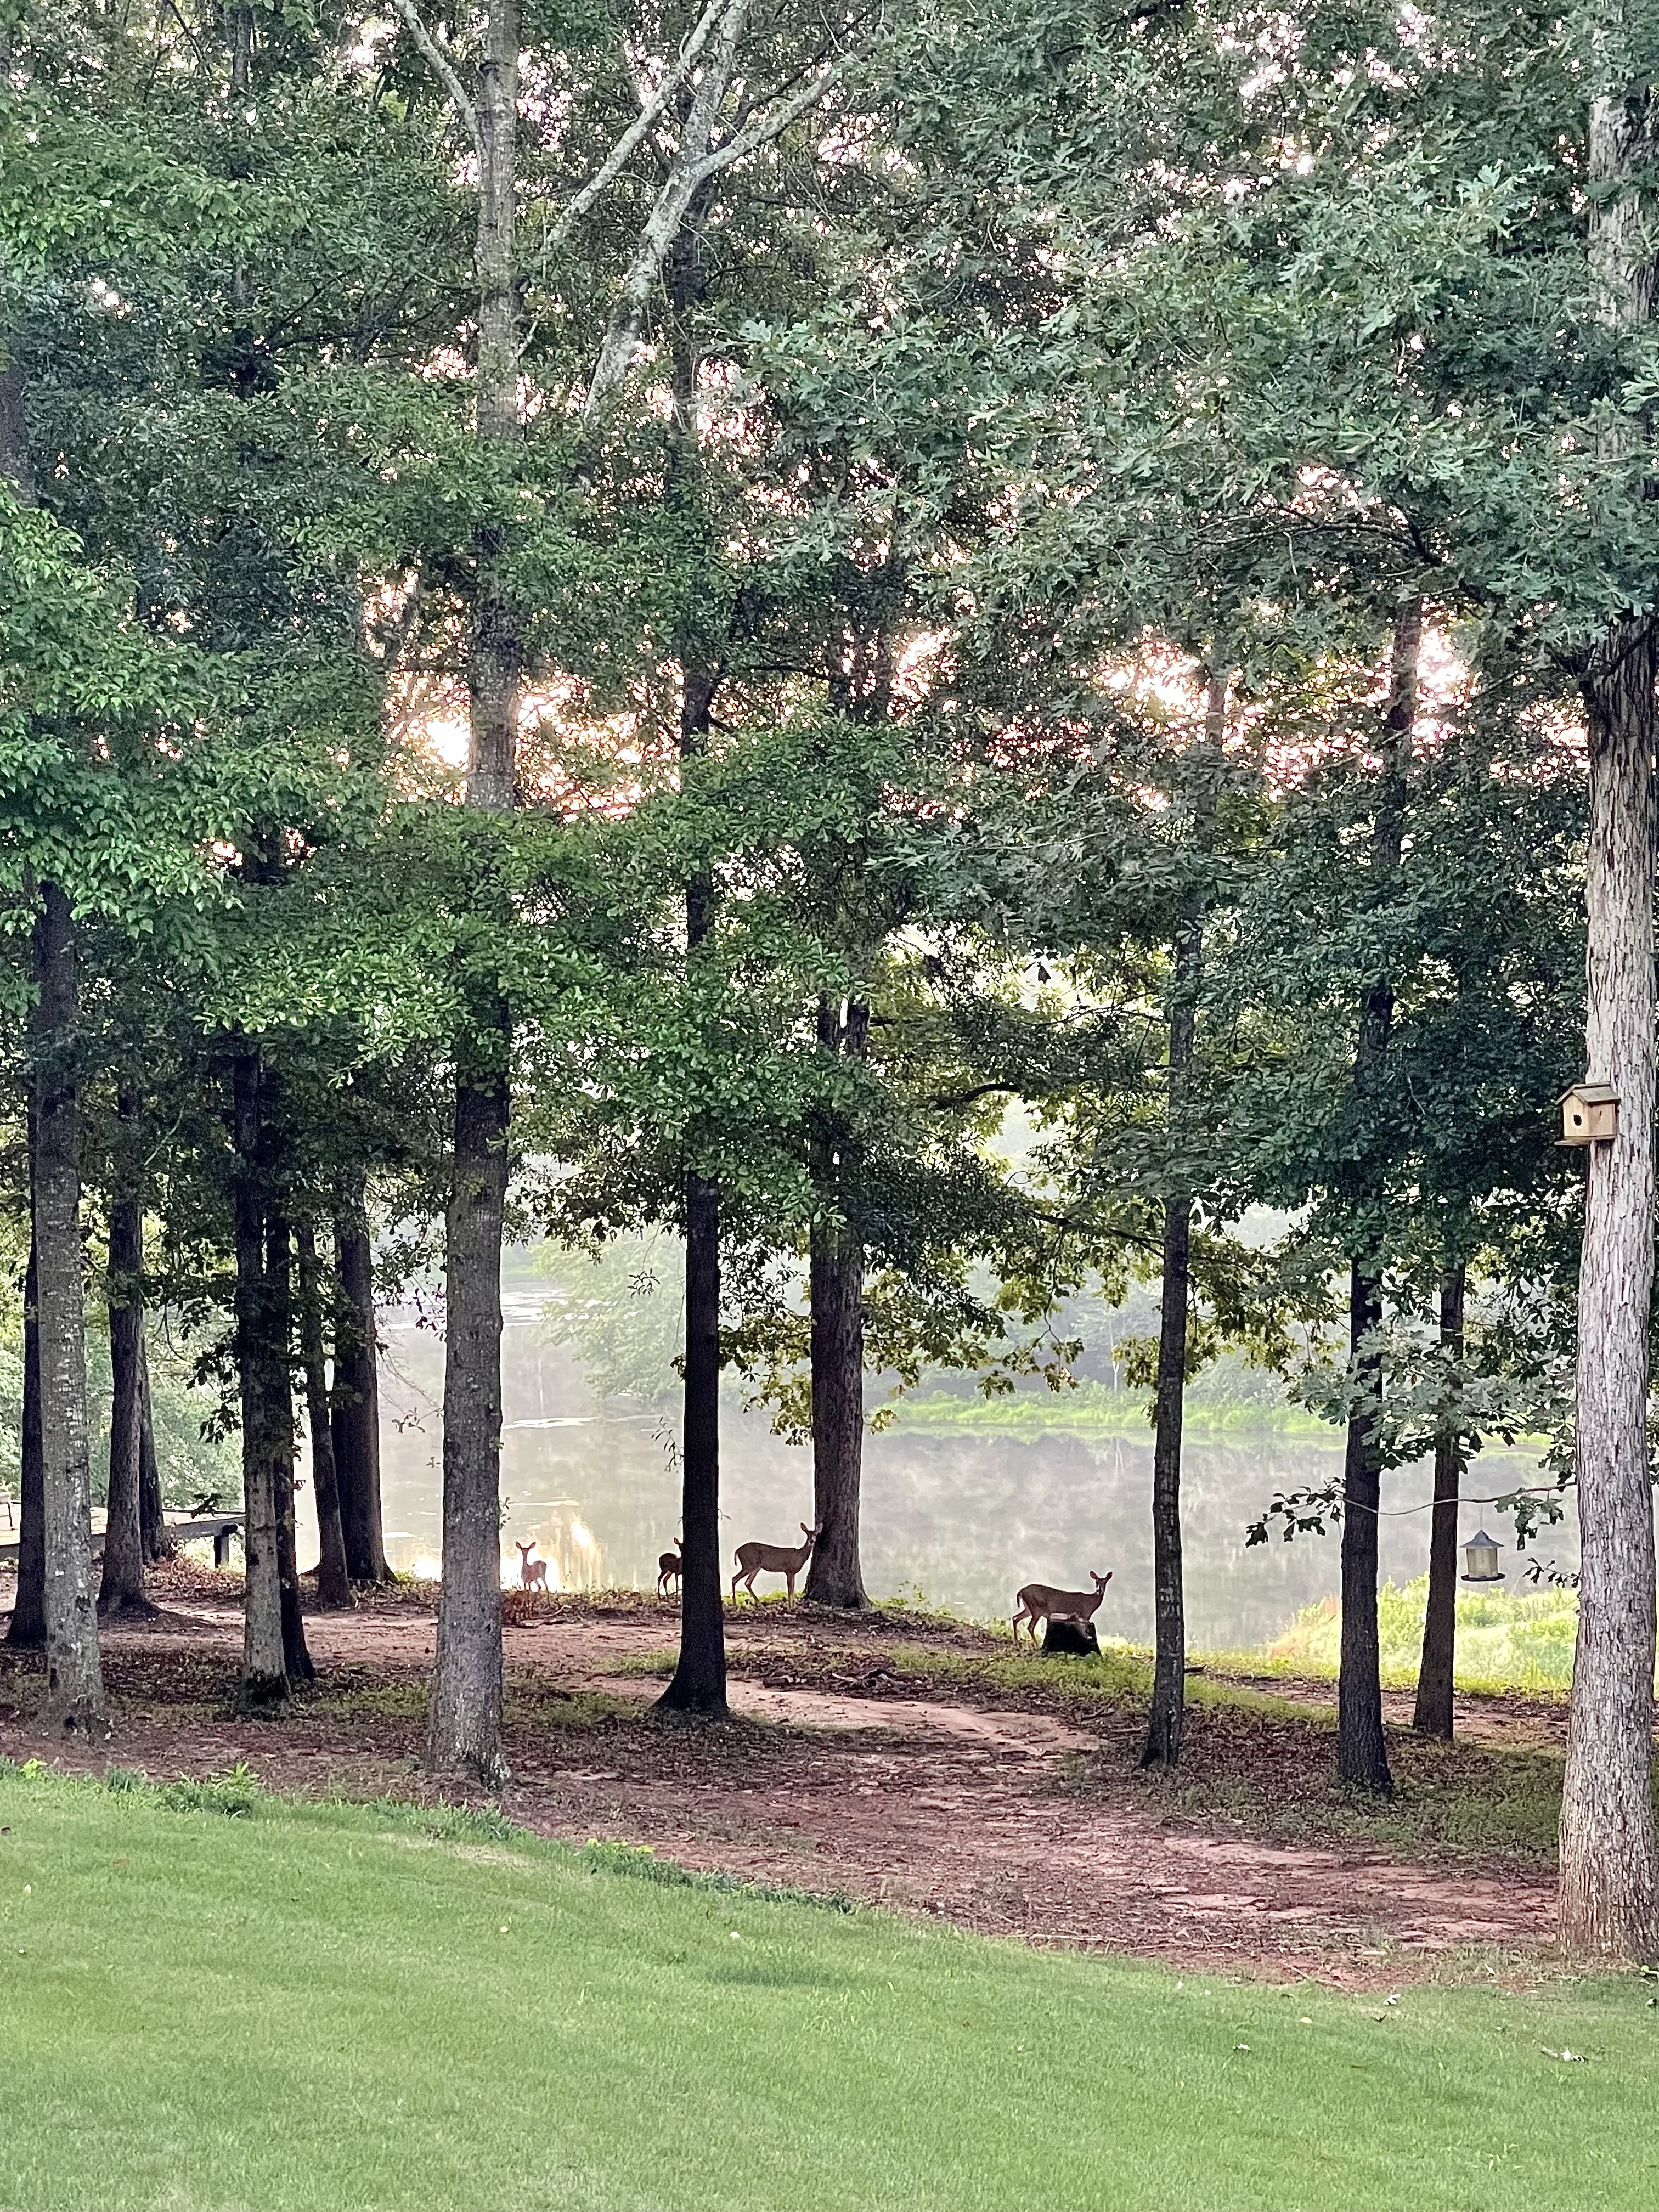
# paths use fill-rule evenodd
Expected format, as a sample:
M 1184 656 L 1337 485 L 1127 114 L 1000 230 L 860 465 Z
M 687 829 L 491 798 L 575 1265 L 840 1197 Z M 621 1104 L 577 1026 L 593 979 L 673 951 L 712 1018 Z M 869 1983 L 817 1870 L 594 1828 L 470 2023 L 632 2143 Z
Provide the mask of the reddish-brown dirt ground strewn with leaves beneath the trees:
M 0 1648 L 0 1754 L 153 1778 L 246 1761 L 274 1790 L 420 1796 L 434 1608 L 400 1590 L 307 1617 L 319 1681 L 283 1721 L 234 1710 L 239 1584 L 195 1566 L 155 1584 L 161 1613 L 104 1637 L 111 1736 L 44 1745 L 38 1659 Z M 0 1582 L 0 1610 L 9 1588 Z M 509 1599 L 502 1812 L 544 1836 L 650 1845 L 701 1869 L 834 1891 L 1035 1944 L 1126 1951 L 1183 1969 L 1383 1986 L 1436 1971 L 1528 1971 L 1553 1929 L 1546 1867 L 1369 1843 L 1267 1840 L 1192 1807 L 1188 1781 L 1241 1776 L 1296 1803 L 1329 1790 L 1329 1732 L 1194 1708 L 1181 1776 L 1137 1770 L 1139 1721 L 1057 1688 L 991 1690 L 900 1674 L 894 1648 L 962 1657 L 989 1637 L 925 1619 L 841 1621 L 763 1606 L 730 1619 L 734 1719 L 653 1717 L 672 1604 Z M 1276 1694 L 1294 1686 L 1272 1683 Z M 1310 1703 L 1329 1690 L 1305 1686 Z M 1396 1714 L 1391 1714 L 1396 1717 Z M 1551 1712 L 1460 1714 L 1473 1736 L 1548 1743 Z M 1292 1823 L 1294 1827 L 1294 1823 Z

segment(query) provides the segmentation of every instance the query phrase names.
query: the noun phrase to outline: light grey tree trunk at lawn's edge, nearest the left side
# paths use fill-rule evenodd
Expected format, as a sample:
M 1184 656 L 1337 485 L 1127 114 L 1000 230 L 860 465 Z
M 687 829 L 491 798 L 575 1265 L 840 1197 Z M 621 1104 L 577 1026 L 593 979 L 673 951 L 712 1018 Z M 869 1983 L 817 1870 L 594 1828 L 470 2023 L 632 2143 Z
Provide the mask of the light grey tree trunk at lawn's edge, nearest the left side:
M 91 1734 L 104 1712 L 93 1604 L 93 1489 L 86 1433 L 86 1292 L 80 1252 L 80 1011 L 69 894 L 40 887 L 35 920 L 35 1285 L 46 1531 L 46 1701 L 42 1723 Z

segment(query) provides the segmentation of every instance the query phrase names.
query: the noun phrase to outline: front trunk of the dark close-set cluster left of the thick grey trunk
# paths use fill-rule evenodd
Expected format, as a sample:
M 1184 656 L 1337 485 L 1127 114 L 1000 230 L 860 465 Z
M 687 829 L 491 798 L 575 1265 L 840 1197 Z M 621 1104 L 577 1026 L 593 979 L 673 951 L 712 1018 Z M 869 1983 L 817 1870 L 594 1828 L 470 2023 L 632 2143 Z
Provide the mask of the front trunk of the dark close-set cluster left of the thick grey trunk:
M 237 1385 L 241 1394 L 241 1489 L 246 1599 L 241 1697 L 254 1708 L 288 1697 L 283 1582 L 279 1557 L 279 1478 L 288 1440 L 274 1436 L 270 1405 L 270 1292 L 265 1285 L 265 1133 L 259 1051 L 237 1040 L 232 1062 L 232 1139 L 237 1150 Z

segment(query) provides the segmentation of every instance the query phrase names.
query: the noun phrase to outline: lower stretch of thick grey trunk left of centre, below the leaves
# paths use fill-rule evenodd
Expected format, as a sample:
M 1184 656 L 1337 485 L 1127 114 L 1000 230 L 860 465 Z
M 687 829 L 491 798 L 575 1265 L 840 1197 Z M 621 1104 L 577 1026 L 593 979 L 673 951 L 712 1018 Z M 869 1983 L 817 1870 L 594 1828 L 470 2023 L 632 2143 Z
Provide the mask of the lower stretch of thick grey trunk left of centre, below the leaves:
M 482 1024 L 480 1024 L 482 1026 Z M 498 1029 L 507 1044 L 507 1018 Z M 445 1237 L 445 1535 L 427 1763 L 507 1778 L 502 1732 L 502 1214 L 507 1071 L 456 1075 L 456 1168 Z

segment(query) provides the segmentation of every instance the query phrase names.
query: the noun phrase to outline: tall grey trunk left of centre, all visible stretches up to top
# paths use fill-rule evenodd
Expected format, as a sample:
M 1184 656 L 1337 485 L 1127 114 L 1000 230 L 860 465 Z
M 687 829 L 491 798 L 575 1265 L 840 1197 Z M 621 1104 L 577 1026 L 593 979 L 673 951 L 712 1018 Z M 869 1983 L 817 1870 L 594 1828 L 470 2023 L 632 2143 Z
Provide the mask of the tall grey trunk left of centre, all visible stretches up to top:
M 507 465 L 520 442 L 518 310 L 518 0 L 491 0 L 478 84 L 478 385 L 476 429 Z M 471 763 L 467 803 L 513 805 L 520 613 L 495 522 L 478 531 L 478 599 L 467 653 Z M 445 1248 L 445 1555 L 427 1761 L 436 1772 L 507 1774 L 502 1725 L 502 1234 L 513 1020 L 500 993 L 473 1000 L 456 1044 L 456 1161 Z

